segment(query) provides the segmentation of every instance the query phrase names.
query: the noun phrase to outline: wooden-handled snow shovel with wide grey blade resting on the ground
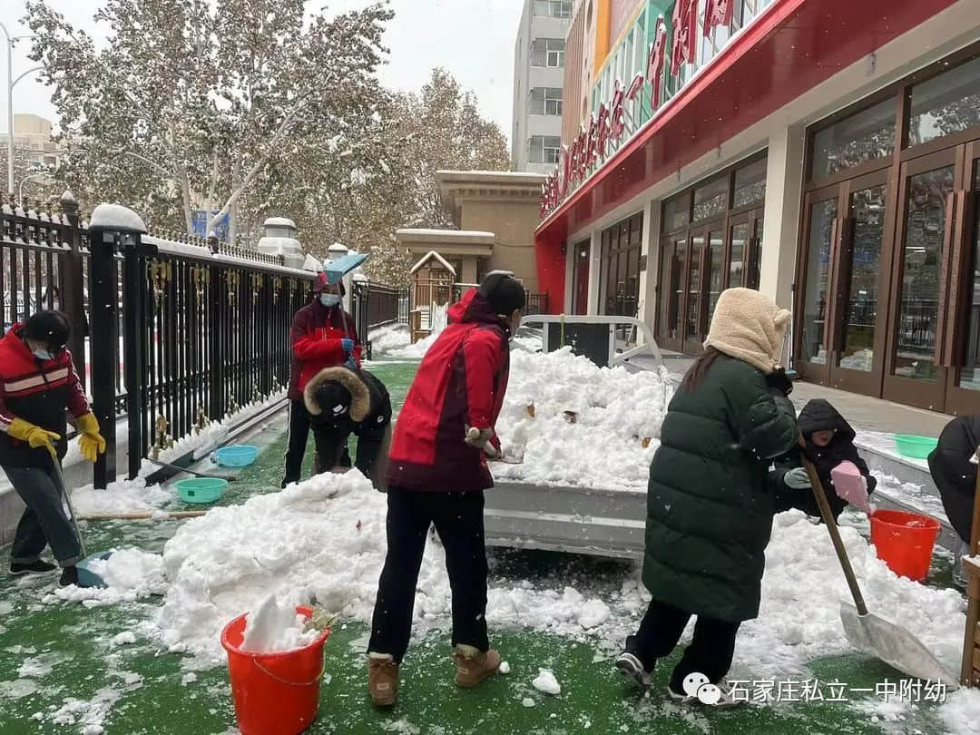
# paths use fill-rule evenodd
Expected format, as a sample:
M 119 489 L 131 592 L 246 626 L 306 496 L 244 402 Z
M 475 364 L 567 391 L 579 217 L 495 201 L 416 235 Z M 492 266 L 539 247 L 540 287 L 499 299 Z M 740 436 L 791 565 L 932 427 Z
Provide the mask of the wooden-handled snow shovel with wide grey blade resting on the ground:
M 803 438 L 801 437 L 802 443 Z M 855 577 L 854 569 L 851 566 L 851 560 L 848 558 L 848 552 L 841 540 L 837 521 L 827 504 L 827 496 L 823 490 L 823 485 L 820 483 L 820 477 L 807 456 L 802 452 L 801 459 L 803 466 L 807 469 L 813 496 L 820 507 L 820 515 L 823 516 L 823 522 L 830 532 L 834 551 L 837 552 L 837 559 L 841 563 L 844 576 L 848 580 L 848 587 L 851 588 L 851 596 L 854 598 L 854 605 L 846 600 L 841 600 L 841 622 L 844 624 L 844 632 L 848 641 L 859 651 L 870 654 L 909 676 L 940 681 L 951 690 L 958 688 L 959 682 L 956 680 L 956 676 L 951 674 L 909 630 L 881 615 L 868 612 L 867 606 L 864 604 L 864 597 L 861 595 L 860 587 L 858 587 L 858 579 Z

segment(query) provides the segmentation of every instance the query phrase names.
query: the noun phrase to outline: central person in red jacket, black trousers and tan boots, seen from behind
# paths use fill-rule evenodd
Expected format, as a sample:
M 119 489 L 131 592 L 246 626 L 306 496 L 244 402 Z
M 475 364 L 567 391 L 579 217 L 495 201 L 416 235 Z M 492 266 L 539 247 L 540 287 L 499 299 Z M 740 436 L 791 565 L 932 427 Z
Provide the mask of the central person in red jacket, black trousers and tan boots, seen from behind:
M 483 490 L 493 487 L 486 456 L 500 447 L 494 424 L 507 392 L 509 340 L 523 307 L 524 289 L 509 273 L 490 273 L 470 289 L 425 354 L 395 425 L 388 553 L 368 644 L 368 690 L 378 707 L 395 704 L 430 524 L 446 549 L 453 590 L 456 683 L 475 686 L 500 666 L 485 618 Z

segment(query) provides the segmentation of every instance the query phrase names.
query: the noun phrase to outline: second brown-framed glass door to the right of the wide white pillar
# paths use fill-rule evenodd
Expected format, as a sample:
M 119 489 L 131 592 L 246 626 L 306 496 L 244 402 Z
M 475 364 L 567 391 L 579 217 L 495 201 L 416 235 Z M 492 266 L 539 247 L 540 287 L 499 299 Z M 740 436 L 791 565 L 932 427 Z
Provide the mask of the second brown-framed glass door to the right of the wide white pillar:
M 841 247 L 832 284 L 837 304 L 830 324 L 833 356 L 830 384 L 879 395 L 884 368 L 887 269 L 882 269 L 888 200 L 887 172 L 852 179 L 842 192 L 847 217 L 841 220 Z

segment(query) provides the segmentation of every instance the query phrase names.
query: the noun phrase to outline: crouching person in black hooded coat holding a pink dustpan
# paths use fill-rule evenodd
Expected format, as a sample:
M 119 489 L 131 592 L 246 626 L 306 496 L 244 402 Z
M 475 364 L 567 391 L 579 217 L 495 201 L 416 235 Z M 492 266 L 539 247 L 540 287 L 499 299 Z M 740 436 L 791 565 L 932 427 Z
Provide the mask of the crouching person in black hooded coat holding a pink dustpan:
M 829 401 L 822 398 L 809 401 L 797 417 L 797 424 L 807 442 L 807 454 L 820 476 L 827 502 L 836 520 L 847 508 L 848 502 L 834 492 L 831 469 L 842 462 L 854 463 L 867 481 L 868 494 L 874 491 L 877 480 L 858 455 L 858 448 L 854 444 L 855 430 Z M 812 493 L 801 493 L 799 501 L 797 508 L 807 515 L 820 517 L 820 509 Z

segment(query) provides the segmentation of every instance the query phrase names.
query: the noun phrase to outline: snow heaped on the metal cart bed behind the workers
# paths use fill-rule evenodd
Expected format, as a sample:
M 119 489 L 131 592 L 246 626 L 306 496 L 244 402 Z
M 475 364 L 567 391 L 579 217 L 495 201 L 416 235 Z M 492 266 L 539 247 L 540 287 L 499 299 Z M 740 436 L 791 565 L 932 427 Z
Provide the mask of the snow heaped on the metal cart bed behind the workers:
M 505 454 L 522 455 L 523 463 L 494 464 L 494 476 L 643 490 L 671 395 L 665 372 L 598 368 L 570 347 L 515 350 L 497 434 Z

